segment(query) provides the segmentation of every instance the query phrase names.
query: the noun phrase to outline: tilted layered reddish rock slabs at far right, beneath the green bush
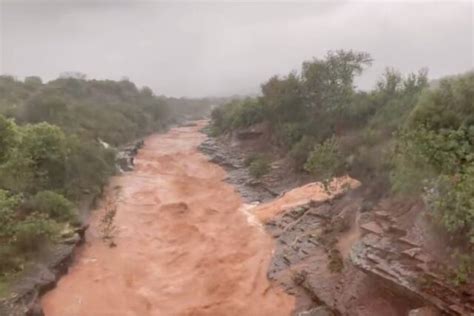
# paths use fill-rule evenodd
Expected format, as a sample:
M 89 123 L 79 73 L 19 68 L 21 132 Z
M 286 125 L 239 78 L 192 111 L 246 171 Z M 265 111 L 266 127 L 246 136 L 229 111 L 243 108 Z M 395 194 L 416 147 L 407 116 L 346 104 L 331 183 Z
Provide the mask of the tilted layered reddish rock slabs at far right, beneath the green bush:
M 436 258 L 442 248 L 436 247 L 437 253 L 433 253 L 424 242 L 423 231 L 419 231 L 422 214 L 410 206 L 398 208 L 398 214 L 384 209 L 391 206 L 379 204 L 372 220 L 361 226 L 363 237 L 351 253 L 354 265 L 445 314 L 473 315 L 473 284 L 452 284 L 443 258 Z M 414 214 L 412 225 L 404 227 L 403 217 L 410 213 L 418 214 Z M 421 309 L 419 315 L 425 315 L 427 310 Z

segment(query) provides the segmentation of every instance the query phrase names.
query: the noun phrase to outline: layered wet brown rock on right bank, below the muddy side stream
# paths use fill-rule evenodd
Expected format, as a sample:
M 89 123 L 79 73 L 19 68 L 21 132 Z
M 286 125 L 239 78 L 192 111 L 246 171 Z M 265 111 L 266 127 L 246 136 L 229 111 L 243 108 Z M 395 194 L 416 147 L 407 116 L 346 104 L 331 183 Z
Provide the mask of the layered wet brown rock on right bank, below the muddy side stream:
M 290 208 L 265 224 L 276 239 L 268 276 L 297 296 L 297 310 L 322 305 L 336 315 L 474 315 L 472 283 L 452 284 L 419 231 L 428 223 L 410 218 L 407 227 L 408 217 L 423 214 L 416 204 L 382 201 L 360 213 L 364 203 L 354 190 Z M 341 248 L 354 220 L 360 236 Z

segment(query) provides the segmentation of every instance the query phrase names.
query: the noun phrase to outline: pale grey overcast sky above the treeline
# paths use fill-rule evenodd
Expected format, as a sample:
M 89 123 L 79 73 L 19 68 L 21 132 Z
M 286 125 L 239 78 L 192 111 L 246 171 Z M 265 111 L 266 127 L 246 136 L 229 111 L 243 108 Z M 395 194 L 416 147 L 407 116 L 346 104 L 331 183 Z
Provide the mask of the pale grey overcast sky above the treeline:
M 474 68 L 472 1 L 0 3 L 0 73 L 19 78 L 78 71 L 170 96 L 247 94 L 341 48 L 374 58 L 363 89 L 387 66 Z

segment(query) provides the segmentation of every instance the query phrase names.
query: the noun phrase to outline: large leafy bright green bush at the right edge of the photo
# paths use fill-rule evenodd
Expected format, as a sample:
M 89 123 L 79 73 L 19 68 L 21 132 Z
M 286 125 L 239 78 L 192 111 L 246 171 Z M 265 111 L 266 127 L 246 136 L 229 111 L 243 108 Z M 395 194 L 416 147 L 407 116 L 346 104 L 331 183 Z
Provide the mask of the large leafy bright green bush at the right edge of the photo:
M 394 187 L 418 188 L 435 218 L 474 244 L 474 73 L 426 91 L 397 146 Z

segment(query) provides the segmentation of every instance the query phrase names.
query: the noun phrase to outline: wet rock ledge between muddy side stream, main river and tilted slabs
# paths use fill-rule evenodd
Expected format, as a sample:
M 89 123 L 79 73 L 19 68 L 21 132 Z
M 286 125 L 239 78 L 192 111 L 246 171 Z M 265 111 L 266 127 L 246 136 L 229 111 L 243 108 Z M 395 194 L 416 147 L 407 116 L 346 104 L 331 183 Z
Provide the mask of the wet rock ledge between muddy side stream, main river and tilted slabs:
M 354 220 L 362 204 L 356 190 L 266 223 L 277 240 L 269 278 L 297 296 L 297 311 L 326 306 L 335 315 L 407 315 L 419 305 L 354 267 L 338 249 L 348 229 L 343 223 Z

